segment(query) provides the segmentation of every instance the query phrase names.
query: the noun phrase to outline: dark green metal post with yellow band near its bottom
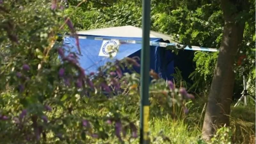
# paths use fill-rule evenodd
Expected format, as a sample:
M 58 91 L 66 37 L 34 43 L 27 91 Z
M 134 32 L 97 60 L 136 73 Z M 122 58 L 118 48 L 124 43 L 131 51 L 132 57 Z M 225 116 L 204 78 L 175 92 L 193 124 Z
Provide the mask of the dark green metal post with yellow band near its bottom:
M 150 0 L 142 1 L 142 49 L 141 49 L 141 89 L 140 89 L 140 143 L 149 143 L 149 60 L 150 60 L 150 46 L 149 46 L 149 32 L 150 32 Z

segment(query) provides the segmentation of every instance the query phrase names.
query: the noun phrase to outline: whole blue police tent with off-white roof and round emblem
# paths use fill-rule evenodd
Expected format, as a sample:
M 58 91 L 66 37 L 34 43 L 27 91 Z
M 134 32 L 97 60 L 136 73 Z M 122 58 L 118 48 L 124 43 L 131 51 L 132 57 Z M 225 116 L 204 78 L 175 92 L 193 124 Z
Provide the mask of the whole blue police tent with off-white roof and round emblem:
M 87 73 L 97 72 L 98 68 L 109 61 L 122 60 L 125 57 L 139 57 L 141 44 L 122 43 L 121 41 L 142 40 L 142 29 L 133 26 L 102 28 L 88 31 L 77 32 L 79 36 L 79 45 L 81 56 L 79 63 Z M 151 42 L 173 42 L 170 36 L 150 31 Z M 113 47 L 117 48 L 113 52 Z M 76 39 L 65 36 L 63 48 L 77 51 Z M 109 57 L 111 52 L 112 58 Z M 160 46 L 150 46 L 150 69 L 153 69 L 160 77 L 171 80 L 174 73 L 174 54 Z M 138 61 L 140 63 L 140 61 Z M 140 73 L 140 68 L 134 67 L 135 71 Z

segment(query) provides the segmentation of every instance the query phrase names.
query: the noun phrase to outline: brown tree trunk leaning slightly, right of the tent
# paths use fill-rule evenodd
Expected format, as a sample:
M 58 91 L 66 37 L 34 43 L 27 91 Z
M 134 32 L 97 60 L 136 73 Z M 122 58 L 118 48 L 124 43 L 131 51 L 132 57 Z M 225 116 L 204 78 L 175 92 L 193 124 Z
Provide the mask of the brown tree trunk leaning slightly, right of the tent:
M 237 22 L 236 18 L 240 12 L 244 12 L 245 6 L 244 1 L 221 0 L 225 25 L 204 116 L 202 136 L 205 140 L 210 140 L 219 126 L 229 125 L 230 104 L 235 82 L 234 58 L 242 43 L 245 24 L 244 21 Z

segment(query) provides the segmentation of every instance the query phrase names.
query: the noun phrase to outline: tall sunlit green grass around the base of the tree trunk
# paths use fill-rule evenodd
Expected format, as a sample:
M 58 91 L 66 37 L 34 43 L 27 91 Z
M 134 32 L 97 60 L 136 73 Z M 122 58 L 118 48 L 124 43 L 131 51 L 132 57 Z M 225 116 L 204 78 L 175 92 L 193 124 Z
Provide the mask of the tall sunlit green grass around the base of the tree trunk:
M 255 106 L 231 106 L 230 127 L 220 130 L 212 142 L 204 142 L 200 139 L 204 120 L 205 100 L 198 99 L 188 104 L 190 112 L 180 119 L 173 120 L 171 116 L 154 114 L 149 121 L 151 143 L 156 144 L 225 144 L 230 141 L 234 144 L 255 143 Z M 134 109 L 132 119 L 137 119 L 139 127 L 139 109 Z M 137 111 L 137 112 L 136 112 Z M 151 109 L 153 111 L 153 109 Z M 130 111 L 131 113 L 131 111 Z M 136 114 L 137 113 L 137 114 Z M 228 135 L 230 134 L 230 140 Z M 139 139 L 130 140 L 131 143 L 139 143 Z M 98 143 L 118 143 L 116 138 Z

